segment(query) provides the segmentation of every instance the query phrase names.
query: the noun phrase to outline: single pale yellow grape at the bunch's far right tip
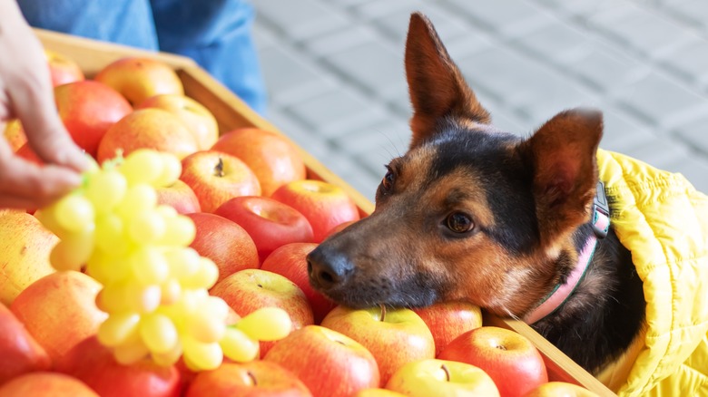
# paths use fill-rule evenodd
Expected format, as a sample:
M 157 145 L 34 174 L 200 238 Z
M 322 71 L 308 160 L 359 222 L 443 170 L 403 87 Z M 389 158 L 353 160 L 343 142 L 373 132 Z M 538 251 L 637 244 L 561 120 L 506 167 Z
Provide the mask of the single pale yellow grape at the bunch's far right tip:
M 261 307 L 241 318 L 236 327 L 253 339 L 277 341 L 290 334 L 292 321 L 280 307 Z

